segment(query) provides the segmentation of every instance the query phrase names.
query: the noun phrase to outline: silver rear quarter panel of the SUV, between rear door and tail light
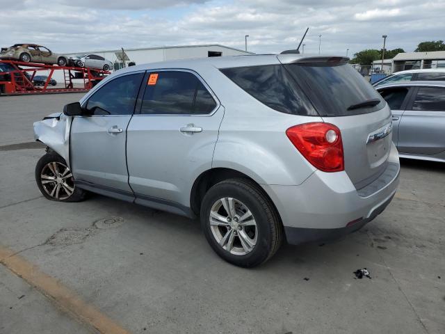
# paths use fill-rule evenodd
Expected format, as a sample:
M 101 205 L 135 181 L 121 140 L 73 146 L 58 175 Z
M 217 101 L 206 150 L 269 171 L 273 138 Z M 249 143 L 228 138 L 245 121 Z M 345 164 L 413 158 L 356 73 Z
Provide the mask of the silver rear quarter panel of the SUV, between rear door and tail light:
M 286 129 L 319 117 L 280 113 L 262 104 L 215 69 L 204 79 L 225 107 L 212 168 L 232 168 L 259 184 L 302 184 L 316 168 L 302 157 Z

